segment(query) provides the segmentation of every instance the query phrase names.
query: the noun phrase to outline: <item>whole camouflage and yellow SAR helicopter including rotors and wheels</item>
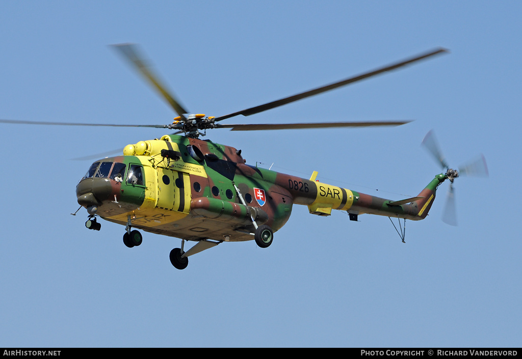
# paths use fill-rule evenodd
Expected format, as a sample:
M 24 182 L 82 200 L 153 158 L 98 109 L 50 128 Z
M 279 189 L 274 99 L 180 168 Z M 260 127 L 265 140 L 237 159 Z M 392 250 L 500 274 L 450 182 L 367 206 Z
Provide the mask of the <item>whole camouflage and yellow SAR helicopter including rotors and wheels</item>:
M 307 206 L 311 214 L 324 217 L 330 216 L 334 209 L 346 211 L 351 221 L 358 221 L 361 214 L 386 216 L 390 220 L 397 218 L 400 232 L 397 227 L 395 229 L 402 242 L 405 242 L 406 219 L 418 221 L 428 216 L 440 184 L 449 179 L 452 183 L 450 194 L 453 195 L 453 181 L 460 174 L 483 173 L 484 169 L 487 173 L 483 157 L 482 162 L 479 160 L 459 170 L 450 169 L 430 132 L 422 143 L 446 172 L 437 174 L 416 197 L 389 200 L 321 183 L 316 179 L 316 171 L 310 178 L 301 178 L 247 164 L 241 150 L 209 139 L 200 139 L 206 136 L 207 130 L 216 128 L 247 131 L 404 125 L 409 121 L 239 125 L 220 122 L 234 116 L 257 114 L 347 86 L 446 53 L 446 49 L 434 49 L 330 85 L 215 117 L 187 111 L 163 85 L 136 44 L 117 44 L 113 48 L 176 112 L 177 116 L 172 123 L 122 125 L 7 119 L 1 119 L 0 122 L 175 130 L 175 133 L 160 138 L 129 144 L 123 149 L 122 155 L 94 161 L 76 186 L 80 207 L 71 214 L 76 215 L 81 208 L 85 208 L 88 213 L 85 226 L 94 231 L 101 229 L 100 218 L 125 226 L 123 243 L 129 248 L 143 243 L 140 230 L 180 238 L 180 248 L 170 252 L 171 264 L 177 269 L 187 267 L 189 256 L 223 242 L 254 240 L 259 247 L 267 248 L 274 241 L 274 233 L 289 220 L 293 205 Z M 402 224 L 400 219 L 403 220 Z M 186 241 L 195 244 L 185 251 Z

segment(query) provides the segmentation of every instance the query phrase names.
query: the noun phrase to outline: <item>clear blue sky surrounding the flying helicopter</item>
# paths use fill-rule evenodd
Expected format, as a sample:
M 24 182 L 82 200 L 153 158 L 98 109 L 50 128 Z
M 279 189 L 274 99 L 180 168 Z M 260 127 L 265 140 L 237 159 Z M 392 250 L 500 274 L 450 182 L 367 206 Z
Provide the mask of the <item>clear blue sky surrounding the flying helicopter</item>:
M 459 226 L 350 222 L 294 206 L 267 249 L 223 243 L 174 269 L 175 238 L 89 231 L 71 159 L 156 129 L 0 125 L 0 346 L 522 345 L 519 2 L 0 3 L 0 118 L 169 123 L 174 113 L 109 44 L 139 43 L 194 113 L 224 115 L 443 46 L 444 56 L 227 123 L 414 119 L 396 128 L 208 138 L 247 163 L 390 199 L 483 153 L 489 178 L 455 182 Z

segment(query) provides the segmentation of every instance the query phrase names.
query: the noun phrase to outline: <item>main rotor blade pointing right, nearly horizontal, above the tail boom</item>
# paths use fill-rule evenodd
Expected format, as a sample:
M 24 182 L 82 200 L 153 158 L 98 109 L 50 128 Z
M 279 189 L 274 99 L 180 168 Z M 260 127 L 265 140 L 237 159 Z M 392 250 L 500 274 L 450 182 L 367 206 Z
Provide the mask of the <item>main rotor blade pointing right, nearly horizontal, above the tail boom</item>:
M 220 125 L 216 128 L 230 128 L 231 131 L 255 131 L 271 129 L 329 128 L 329 127 L 370 127 L 370 126 L 400 126 L 411 121 L 388 122 L 322 122 L 296 124 L 252 124 L 252 125 Z

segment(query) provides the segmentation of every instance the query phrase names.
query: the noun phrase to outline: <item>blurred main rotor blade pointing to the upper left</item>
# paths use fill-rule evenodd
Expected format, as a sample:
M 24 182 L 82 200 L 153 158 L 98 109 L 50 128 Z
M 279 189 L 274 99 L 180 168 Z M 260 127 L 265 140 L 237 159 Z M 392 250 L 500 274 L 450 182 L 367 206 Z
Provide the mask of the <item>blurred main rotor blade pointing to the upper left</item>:
M 147 65 L 143 56 L 140 56 L 138 53 L 138 47 L 133 44 L 116 44 L 112 45 L 114 49 L 118 50 L 123 57 L 125 57 L 138 71 L 141 75 L 143 75 L 155 88 L 162 97 L 167 100 L 174 111 L 185 117 L 184 114 L 188 113 L 187 110 L 183 108 L 179 101 L 177 101 L 174 96 L 167 90 L 165 86 L 161 84 L 158 79 L 158 76 L 153 74 L 152 68 Z

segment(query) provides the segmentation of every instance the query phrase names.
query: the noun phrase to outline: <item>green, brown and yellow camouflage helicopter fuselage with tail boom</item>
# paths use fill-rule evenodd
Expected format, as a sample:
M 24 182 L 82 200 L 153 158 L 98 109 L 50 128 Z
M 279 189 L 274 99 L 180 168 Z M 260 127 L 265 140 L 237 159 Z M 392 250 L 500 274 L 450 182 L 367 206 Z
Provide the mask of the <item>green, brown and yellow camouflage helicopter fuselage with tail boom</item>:
M 251 166 L 233 147 L 176 135 L 128 145 L 91 169 L 76 188 L 80 205 L 111 222 L 130 219 L 133 228 L 192 241 L 252 240 L 252 219 L 275 232 L 294 204 L 319 216 L 337 209 L 420 220 L 445 179 L 437 175 L 416 200 L 397 204 L 314 181 L 316 173 L 304 179 Z

